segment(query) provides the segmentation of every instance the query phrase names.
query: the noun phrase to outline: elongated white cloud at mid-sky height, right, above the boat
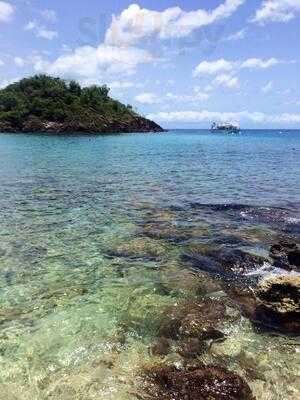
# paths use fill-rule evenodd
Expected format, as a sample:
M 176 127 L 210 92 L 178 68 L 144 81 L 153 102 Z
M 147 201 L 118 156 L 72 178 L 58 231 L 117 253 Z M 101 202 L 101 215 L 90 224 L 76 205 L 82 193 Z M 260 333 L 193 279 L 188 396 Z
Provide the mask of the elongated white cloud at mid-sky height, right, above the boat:
M 193 76 L 214 75 L 220 72 L 236 72 L 238 69 L 266 69 L 281 64 L 283 61 L 277 58 L 262 60 L 260 58 L 249 58 L 245 61 L 228 61 L 221 58 L 215 61 L 202 61 L 194 69 Z

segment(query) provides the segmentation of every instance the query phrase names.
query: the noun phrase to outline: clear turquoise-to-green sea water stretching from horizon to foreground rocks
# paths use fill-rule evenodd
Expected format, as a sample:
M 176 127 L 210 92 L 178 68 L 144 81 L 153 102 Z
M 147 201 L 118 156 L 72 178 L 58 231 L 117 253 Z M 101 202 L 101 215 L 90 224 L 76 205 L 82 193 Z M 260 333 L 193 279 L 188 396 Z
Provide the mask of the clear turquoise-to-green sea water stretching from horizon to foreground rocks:
M 167 308 L 229 301 L 200 284 L 186 246 L 266 255 L 299 236 L 300 132 L 1 135 L 0 171 L 1 399 L 137 399 Z M 236 322 L 201 361 L 258 399 L 296 399 L 294 340 L 227 305 Z

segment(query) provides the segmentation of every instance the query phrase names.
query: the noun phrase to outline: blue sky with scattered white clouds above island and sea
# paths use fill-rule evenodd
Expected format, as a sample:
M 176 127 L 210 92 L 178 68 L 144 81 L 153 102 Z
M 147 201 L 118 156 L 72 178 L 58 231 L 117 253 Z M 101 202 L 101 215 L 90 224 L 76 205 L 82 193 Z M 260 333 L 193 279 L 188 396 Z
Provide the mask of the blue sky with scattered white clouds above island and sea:
M 300 0 L 0 0 L 0 87 L 46 73 L 166 128 L 300 127 Z

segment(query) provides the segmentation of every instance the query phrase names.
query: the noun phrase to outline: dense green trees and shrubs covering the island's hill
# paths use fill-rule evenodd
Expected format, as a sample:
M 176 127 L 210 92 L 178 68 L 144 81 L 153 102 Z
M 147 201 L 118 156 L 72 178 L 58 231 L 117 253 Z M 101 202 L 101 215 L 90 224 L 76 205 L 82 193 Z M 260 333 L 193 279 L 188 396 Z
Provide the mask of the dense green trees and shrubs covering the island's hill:
M 109 88 L 82 88 L 75 81 L 38 75 L 22 79 L 0 91 L 0 120 L 21 125 L 30 115 L 53 122 L 86 119 L 87 111 L 106 117 L 132 116 L 131 106 L 109 97 Z

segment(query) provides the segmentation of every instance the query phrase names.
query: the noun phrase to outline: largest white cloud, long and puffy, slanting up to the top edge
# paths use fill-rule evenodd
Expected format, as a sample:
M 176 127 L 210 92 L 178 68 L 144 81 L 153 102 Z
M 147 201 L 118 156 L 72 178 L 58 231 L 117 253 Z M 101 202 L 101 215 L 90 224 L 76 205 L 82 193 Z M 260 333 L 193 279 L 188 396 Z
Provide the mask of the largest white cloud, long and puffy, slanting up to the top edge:
M 106 32 L 109 45 L 133 45 L 144 38 L 160 39 L 182 38 L 194 30 L 210 25 L 220 19 L 228 18 L 245 0 L 225 0 L 213 10 L 184 11 L 180 7 L 153 11 L 131 4 L 119 16 L 113 16 Z

